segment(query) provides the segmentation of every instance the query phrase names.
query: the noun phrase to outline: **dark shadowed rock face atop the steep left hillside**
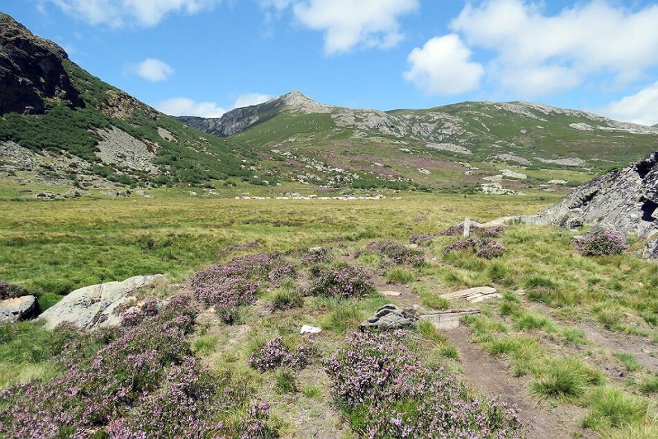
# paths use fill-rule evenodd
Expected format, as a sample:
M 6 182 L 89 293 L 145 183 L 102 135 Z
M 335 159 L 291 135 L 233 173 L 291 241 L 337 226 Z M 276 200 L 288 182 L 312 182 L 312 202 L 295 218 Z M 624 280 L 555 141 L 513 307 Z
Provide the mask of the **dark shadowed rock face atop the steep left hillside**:
M 44 98 L 83 105 L 62 62 L 60 46 L 36 37 L 0 12 L 0 116 L 10 111 L 43 114 Z

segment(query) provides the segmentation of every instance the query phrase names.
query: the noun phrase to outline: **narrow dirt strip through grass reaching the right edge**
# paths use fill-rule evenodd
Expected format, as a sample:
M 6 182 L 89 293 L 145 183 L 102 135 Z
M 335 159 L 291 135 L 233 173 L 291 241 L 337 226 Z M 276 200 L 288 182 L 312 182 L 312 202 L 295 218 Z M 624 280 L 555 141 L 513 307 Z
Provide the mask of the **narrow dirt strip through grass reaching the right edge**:
M 608 331 L 593 322 L 563 321 L 554 315 L 553 308 L 542 303 L 524 301 L 524 305 L 551 316 L 551 319 L 558 323 L 583 331 L 587 339 L 603 348 L 610 349 L 612 352 L 633 355 L 639 364 L 652 372 L 658 372 L 658 343 L 632 334 Z

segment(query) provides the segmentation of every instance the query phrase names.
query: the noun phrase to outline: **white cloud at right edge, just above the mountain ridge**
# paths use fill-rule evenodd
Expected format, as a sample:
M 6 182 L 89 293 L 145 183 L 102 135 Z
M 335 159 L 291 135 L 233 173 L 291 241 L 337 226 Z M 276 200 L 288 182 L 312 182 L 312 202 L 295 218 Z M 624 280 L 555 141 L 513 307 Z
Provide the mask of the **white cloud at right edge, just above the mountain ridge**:
M 616 120 L 655 125 L 658 123 L 658 81 L 598 111 Z

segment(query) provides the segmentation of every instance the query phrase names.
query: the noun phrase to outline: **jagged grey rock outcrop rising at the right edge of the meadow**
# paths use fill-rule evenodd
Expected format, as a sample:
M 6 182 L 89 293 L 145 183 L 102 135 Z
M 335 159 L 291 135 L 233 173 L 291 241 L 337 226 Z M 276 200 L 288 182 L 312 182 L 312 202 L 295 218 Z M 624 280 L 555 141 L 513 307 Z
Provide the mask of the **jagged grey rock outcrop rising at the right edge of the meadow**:
M 622 235 L 658 235 L 658 151 L 625 168 L 578 186 L 537 215 L 545 223 L 575 229 L 583 224 Z

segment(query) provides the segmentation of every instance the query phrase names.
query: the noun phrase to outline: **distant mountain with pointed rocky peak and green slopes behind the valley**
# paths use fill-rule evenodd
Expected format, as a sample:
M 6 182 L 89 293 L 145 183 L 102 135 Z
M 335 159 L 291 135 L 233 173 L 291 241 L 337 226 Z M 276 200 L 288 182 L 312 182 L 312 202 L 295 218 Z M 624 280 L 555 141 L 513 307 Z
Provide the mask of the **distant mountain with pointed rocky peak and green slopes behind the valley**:
M 179 120 L 260 150 L 281 178 L 364 188 L 558 190 L 639 159 L 658 141 L 655 127 L 532 102 L 377 111 L 323 105 L 299 91 L 220 118 Z

